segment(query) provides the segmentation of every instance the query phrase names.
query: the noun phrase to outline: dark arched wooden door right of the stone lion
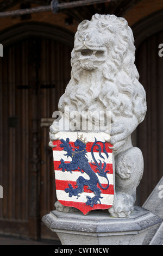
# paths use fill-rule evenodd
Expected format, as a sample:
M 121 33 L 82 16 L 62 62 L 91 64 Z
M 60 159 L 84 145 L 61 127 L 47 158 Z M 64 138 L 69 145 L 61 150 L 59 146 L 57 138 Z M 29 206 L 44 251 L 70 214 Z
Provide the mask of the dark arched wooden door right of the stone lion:
M 159 45 L 163 32 L 150 36 L 137 49 L 136 66 L 146 90 L 147 114 L 137 129 L 137 145 L 142 150 L 145 169 L 139 186 L 142 205 L 163 175 L 163 57 Z

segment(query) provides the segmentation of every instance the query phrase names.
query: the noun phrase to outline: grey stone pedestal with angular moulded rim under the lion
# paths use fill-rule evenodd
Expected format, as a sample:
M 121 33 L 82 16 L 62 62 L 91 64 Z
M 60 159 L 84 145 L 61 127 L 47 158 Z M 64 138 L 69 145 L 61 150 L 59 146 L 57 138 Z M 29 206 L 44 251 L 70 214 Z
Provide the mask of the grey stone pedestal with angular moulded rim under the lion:
M 130 217 L 110 217 L 108 211 L 51 211 L 43 223 L 56 232 L 62 245 L 142 245 L 148 231 L 162 220 L 152 212 L 135 206 Z

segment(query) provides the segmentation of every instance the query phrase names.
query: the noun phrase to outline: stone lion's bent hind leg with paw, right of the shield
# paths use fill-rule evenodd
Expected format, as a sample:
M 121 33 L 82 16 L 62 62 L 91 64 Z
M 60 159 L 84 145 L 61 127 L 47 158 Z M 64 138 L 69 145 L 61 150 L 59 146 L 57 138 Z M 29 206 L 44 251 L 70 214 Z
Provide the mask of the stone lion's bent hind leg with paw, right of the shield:
M 117 155 L 115 172 L 116 195 L 109 212 L 113 217 L 129 217 L 134 210 L 136 188 L 143 174 L 141 150 L 132 147 Z

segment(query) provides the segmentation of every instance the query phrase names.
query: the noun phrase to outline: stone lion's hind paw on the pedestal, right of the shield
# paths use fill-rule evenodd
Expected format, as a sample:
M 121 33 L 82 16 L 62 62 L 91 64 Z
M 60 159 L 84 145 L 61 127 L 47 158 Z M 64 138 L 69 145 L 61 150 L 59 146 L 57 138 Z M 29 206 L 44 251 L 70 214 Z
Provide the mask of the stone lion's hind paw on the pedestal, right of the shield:
M 134 210 L 133 197 L 128 194 L 118 194 L 114 205 L 108 210 L 111 217 L 130 217 Z

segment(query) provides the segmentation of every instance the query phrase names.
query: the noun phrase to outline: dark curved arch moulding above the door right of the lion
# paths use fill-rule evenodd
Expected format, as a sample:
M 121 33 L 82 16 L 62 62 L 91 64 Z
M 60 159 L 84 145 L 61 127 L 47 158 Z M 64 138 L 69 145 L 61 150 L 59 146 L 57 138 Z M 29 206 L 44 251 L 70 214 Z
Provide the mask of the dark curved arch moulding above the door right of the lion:
M 155 13 L 141 19 L 131 27 L 135 39 L 136 50 L 149 36 L 162 31 L 163 28 L 163 9 L 156 11 Z

